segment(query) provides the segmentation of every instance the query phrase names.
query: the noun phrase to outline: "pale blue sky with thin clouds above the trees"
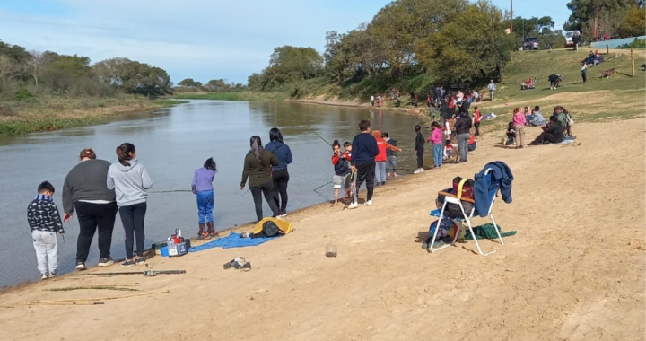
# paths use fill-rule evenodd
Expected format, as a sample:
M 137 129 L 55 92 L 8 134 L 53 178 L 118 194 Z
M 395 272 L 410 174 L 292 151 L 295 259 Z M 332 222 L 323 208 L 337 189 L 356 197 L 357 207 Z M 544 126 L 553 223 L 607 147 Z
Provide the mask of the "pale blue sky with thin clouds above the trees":
M 556 29 L 566 0 L 512 0 L 514 17 L 549 15 Z M 326 31 L 370 22 L 389 0 L 0 0 L 0 39 L 28 50 L 110 57 L 193 78 L 247 83 L 275 47 L 325 48 Z M 510 0 L 492 0 L 509 10 Z

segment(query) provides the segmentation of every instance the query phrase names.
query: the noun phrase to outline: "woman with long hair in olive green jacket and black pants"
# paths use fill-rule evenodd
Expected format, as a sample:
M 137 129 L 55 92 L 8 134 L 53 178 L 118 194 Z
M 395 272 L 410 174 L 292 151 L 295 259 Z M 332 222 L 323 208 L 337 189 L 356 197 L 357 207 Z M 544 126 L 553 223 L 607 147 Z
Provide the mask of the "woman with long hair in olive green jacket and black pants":
M 247 179 L 249 179 L 249 190 L 253 196 L 254 205 L 256 206 L 256 217 L 258 222 L 263 219 L 262 196 L 265 197 L 269 208 L 272 210 L 274 217 L 280 215 L 278 205 L 272 197 L 274 180 L 272 179 L 272 167 L 280 164 L 275 155 L 267 151 L 262 146 L 260 136 L 251 136 L 249 139 L 251 149 L 244 159 L 242 169 L 242 180 L 240 181 L 240 190 L 243 190 Z

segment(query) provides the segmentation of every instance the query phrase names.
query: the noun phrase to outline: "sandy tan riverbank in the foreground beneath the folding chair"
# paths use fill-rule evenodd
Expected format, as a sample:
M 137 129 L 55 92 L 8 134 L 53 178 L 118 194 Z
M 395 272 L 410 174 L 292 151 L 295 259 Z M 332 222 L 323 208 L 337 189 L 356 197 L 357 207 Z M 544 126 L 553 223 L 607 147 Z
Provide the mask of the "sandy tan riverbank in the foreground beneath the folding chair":
M 15 308 L 0 308 L 0 339 L 643 340 L 644 123 L 577 125 L 580 146 L 508 150 L 490 137 L 466 164 L 378 188 L 371 207 L 319 205 L 289 217 L 295 232 L 256 248 L 150 261 L 187 275 L 63 277 L 4 293 L 0 306 Z M 516 177 L 514 202 L 499 201 L 496 220 L 518 234 L 505 246 L 484 240 L 498 249 L 488 258 L 473 242 L 426 253 L 415 240 L 437 190 L 493 160 Z M 329 242 L 337 258 L 323 255 Z M 224 271 L 239 254 L 253 270 Z M 170 293 L 18 305 L 126 294 L 45 288 L 135 283 Z

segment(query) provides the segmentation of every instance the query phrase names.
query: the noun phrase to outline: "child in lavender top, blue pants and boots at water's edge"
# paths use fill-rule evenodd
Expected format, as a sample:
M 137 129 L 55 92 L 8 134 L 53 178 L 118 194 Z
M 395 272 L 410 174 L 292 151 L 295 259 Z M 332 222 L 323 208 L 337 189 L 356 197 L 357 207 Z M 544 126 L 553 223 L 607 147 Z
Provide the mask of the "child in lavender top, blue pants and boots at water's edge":
M 197 198 L 197 223 L 199 223 L 199 232 L 197 240 L 208 240 L 217 235 L 214 229 L 213 208 L 214 208 L 214 189 L 213 180 L 217 168 L 213 158 L 208 158 L 204 166 L 197 169 L 193 174 L 191 182 L 191 191 Z M 206 229 L 205 229 L 206 224 Z

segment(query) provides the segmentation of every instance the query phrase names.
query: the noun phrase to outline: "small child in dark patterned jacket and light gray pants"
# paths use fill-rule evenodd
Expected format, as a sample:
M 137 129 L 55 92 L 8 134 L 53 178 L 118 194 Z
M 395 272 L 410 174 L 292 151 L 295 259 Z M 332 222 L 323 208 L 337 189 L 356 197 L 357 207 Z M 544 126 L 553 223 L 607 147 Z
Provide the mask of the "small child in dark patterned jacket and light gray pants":
M 58 240 L 56 233 L 65 234 L 57 205 L 54 204 L 54 186 L 43 181 L 36 196 L 27 207 L 27 222 L 31 228 L 31 240 L 36 249 L 40 279 L 57 276 Z

